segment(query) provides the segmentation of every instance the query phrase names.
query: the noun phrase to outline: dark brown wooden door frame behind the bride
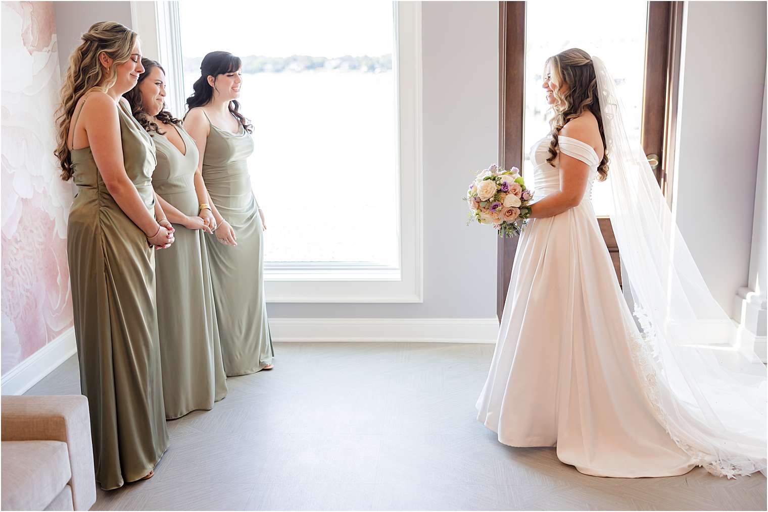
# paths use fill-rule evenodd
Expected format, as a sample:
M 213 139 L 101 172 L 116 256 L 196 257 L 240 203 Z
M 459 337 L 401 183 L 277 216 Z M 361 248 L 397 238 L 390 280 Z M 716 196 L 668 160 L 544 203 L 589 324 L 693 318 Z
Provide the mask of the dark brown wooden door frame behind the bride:
M 680 84 L 684 2 L 648 2 L 641 143 L 657 154 L 657 180 L 672 206 L 675 134 Z M 498 160 L 521 169 L 525 112 L 525 2 L 498 2 Z M 522 78 L 521 78 L 522 77 Z M 653 126 L 652 128 L 650 126 Z M 598 218 L 621 284 L 618 247 L 610 219 Z M 518 238 L 499 238 L 496 258 L 496 314 L 501 320 Z

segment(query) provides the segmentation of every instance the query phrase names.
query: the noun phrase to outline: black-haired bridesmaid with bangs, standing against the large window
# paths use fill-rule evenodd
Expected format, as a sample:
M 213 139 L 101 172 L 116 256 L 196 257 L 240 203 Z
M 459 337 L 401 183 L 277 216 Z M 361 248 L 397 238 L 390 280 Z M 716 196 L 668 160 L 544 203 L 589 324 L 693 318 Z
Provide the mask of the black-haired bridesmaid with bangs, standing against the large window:
M 237 102 L 241 65 L 227 51 L 204 57 L 184 123 L 200 151 L 198 168 L 208 193 L 207 200 L 200 198 L 199 215 L 214 230 L 206 248 L 227 376 L 272 369 L 274 356 L 264 300 L 264 214 L 247 166 L 253 128 Z

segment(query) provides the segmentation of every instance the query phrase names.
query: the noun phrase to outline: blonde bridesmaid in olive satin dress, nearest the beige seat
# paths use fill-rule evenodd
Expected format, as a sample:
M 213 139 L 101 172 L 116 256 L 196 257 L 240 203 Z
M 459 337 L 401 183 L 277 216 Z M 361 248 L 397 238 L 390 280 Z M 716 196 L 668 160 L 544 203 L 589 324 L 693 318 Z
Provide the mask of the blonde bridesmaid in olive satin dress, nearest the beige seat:
M 173 243 L 174 228 L 152 190 L 152 138 L 121 98 L 143 71 L 134 31 L 91 25 L 69 57 L 57 120 L 61 178 L 78 188 L 67 255 L 81 391 L 107 490 L 151 477 L 168 447 L 154 249 Z

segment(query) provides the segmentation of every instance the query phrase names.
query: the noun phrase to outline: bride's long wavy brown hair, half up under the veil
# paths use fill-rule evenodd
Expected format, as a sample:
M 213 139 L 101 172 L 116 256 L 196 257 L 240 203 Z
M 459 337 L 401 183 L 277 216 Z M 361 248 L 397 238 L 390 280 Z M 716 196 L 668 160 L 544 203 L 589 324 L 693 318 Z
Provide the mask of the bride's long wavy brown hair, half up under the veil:
M 604 181 L 608 176 L 608 152 L 605 144 L 605 131 L 603 130 L 603 116 L 598 101 L 598 78 L 594 73 L 592 57 L 586 51 L 579 48 L 570 48 L 561 51 L 547 59 L 550 80 L 554 84 L 554 98 L 558 103 L 552 106 L 554 117 L 549 121 L 552 140 L 549 143 L 549 158 L 547 162 L 554 167 L 554 159 L 558 156 L 558 135 L 565 123 L 576 119 L 589 110 L 598 120 L 600 138 L 603 141 L 604 155 L 598 166 L 598 181 Z M 561 92 L 562 84 L 567 89 Z

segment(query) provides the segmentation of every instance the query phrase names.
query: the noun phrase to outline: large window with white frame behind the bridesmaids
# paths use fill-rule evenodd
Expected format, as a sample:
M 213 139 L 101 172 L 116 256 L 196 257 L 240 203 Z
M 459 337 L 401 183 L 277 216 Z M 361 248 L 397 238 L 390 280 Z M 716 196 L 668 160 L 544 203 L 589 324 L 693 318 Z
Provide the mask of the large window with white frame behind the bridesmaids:
M 421 300 L 419 2 L 146 3 L 174 113 L 205 54 L 243 61 L 267 300 Z

